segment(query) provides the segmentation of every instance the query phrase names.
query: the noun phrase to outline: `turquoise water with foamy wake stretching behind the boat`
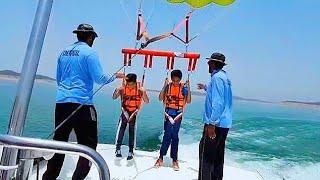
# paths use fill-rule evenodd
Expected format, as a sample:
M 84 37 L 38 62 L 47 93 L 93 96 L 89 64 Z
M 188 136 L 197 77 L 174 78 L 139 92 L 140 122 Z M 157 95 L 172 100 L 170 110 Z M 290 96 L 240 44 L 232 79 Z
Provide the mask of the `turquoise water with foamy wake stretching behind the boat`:
M 6 133 L 16 83 L 0 81 L 0 133 Z M 114 143 L 119 101 L 111 88 L 95 97 L 99 142 Z M 25 136 L 45 138 L 53 130 L 55 85 L 36 83 Z M 194 147 L 202 132 L 203 97 L 193 97 L 186 109 L 180 143 Z M 320 111 L 236 101 L 234 125 L 227 140 L 226 163 L 259 171 L 265 179 L 320 179 Z M 162 104 L 156 94 L 138 121 L 138 148 L 158 150 L 163 128 Z M 126 140 L 124 142 L 127 142 Z

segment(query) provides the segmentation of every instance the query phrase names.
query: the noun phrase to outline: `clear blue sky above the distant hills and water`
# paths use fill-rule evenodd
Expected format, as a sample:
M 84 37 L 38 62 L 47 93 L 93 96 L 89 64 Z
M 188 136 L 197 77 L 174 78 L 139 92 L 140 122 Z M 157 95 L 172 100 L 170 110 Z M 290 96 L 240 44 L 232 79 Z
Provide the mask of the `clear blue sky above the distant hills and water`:
M 137 4 L 137 0 L 55 0 L 38 73 L 55 76 L 57 56 L 75 41 L 71 32 L 83 22 L 92 24 L 99 34 L 94 48 L 104 70 L 112 73 L 118 69 L 121 49 L 134 46 Z M 36 5 L 36 0 L 1 2 L 0 69 L 21 70 Z M 320 1 L 315 0 L 238 0 L 227 8 L 211 5 L 197 10 L 191 19 L 191 33 L 201 34 L 189 49 L 199 52 L 202 59 L 192 75 L 192 87 L 208 80 L 204 57 L 217 51 L 227 57 L 226 70 L 235 95 L 320 101 L 319 7 Z M 151 35 L 171 30 L 188 10 L 187 5 L 171 5 L 165 0 L 143 3 L 145 19 L 151 16 Z M 174 39 L 150 48 L 184 50 Z M 141 75 L 142 63 L 142 58 L 135 59 L 130 71 Z M 165 60 L 154 63 L 146 86 L 159 89 L 166 75 Z M 184 72 L 186 67 L 185 61 L 177 63 Z

